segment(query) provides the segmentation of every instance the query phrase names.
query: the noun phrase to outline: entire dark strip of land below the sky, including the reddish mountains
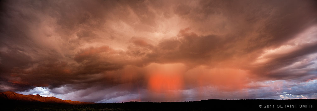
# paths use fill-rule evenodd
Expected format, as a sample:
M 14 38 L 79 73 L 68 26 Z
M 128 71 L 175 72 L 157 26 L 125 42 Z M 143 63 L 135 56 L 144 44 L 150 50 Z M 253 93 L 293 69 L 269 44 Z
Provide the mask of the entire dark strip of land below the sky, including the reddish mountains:
M 203 100 L 194 102 L 124 102 L 70 104 L 0 99 L 3 111 L 212 111 L 212 110 L 314 110 L 316 99 Z

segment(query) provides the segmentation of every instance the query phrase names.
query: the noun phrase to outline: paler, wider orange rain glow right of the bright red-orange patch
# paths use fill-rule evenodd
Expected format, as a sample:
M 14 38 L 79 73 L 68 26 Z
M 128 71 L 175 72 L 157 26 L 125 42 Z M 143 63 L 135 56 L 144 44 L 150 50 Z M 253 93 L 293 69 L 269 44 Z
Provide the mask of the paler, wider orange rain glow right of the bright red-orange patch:
M 199 66 L 185 74 L 188 85 L 196 87 L 216 86 L 220 90 L 234 91 L 247 88 L 250 82 L 248 71 L 231 68 L 207 68 Z

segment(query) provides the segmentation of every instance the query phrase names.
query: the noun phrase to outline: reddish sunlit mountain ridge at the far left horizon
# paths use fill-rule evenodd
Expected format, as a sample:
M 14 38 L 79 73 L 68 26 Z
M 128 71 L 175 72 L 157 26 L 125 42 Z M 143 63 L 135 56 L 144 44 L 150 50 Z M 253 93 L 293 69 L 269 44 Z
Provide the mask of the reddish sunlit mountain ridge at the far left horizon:
M 45 102 L 45 103 L 63 103 L 73 105 L 94 104 L 94 102 L 80 102 L 71 100 L 61 100 L 56 97 L 43 97 L 40 95 L 23 95 L 15 92 L 7 91 L 0 94 L 1 101 L 24 101 L 24 102 Z

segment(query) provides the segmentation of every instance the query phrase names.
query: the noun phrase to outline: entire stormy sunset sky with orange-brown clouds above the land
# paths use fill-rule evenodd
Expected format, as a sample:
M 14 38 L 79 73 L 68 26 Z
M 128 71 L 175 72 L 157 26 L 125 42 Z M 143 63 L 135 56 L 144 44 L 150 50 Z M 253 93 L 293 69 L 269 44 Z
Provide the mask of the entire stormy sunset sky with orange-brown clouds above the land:
M 0 92 L 317 99 L 315 0 L 2 0 Z

